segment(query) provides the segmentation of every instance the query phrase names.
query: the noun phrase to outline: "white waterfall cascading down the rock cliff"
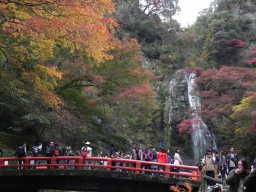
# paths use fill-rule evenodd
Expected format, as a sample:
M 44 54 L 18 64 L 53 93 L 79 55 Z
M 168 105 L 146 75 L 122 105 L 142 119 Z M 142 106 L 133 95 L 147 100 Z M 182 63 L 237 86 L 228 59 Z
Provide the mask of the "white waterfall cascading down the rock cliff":
M 211 134 L 207 125 L 205 125 L 202 120 L 202 116 L 198 113 L 202 108 L 200 97 L 195 94 L 195 77 L 196 74 L 193 72 L 186 74 L 189 105 L 192 110 L 191 118 L 193 119 L 191 127 L 191 147 L 194 154 L 194 161 L 198 163 L 198 161 L 204 157 L 207 148 L 216 148 L 216 141 L 214 134 Z

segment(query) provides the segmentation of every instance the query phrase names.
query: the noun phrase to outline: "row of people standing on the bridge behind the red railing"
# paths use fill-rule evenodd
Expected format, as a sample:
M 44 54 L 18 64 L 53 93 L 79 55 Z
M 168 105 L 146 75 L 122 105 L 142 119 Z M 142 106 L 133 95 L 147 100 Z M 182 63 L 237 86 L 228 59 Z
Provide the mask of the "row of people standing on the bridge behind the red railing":
M 15 152 L 15 157 L 38 157 L 42 156 L 42 143 L 38 143 L 37 145 L 31 147 L 30 150 L 27 149 L 27 143 L 22 143 Z M 1 154 L 3 154 L 1 152 Z M 58 157 L 58 156 L 83 156 L 83 157 L 92 157 L 92 146 L 89 141 L 84 143 L 84 146 L 81 147 L 81 150 L 76 150 L 73 152 L 72 147 L 68 146 L 65 148 L 61 148 L 59 143 L 54 143 L 51 141 L 49 145 L 44 148 L 44 156 L 46 157 Z M 164 147 L 164 143 L 162 142 L 159 146 L 159 151 L 156 148 L 145 148 L 145 150 L 141 150 L 140 147 L 134 147 L 131 152 L 121 152 L 120 150 L 116 150 L 115 145 L 112 143 L 110 146 L 109 152 L 103 154 L 102 151 L 99 151 L 97 157 L 109 157 L 109 158 L 122 158 L 122 159 L 133 159 L 139 161 L 151 161 L 156 163 L 170 163 L 170 164 L 182 164 L 182 159 L 180 157 L 180 150 L 177 148 L 174 154 L 170 153 L 170 150 L 166 150 Z M 35 160 L 31 162 L 33 164 L 38 164 L 38 161 Z M 61 161 L 57 160 L 57 164 L 60 164 Z M 65 163 L 72 164 L 73 161 L 67 161 Z M 90 164 L 90 161 L 84 162 L 84 164 Z M 106 165 L 107 161 L 100 161 L 99 164 Z M 24 164 L 23 160 L 20 159 L 19 164 Z M 51 164 L 51 159 L 47 160 L 47 164 Z M 113 162 L 113 166 L 123 166 L 122 163 L 117 164 Z M 50 166 L 47 166 L 50 168 Z M 143 168 L 148 170 L 159 170 L 159 167 L 156 165 L 143 165 Z M 120 170 L 122 171 L 122 170 Z M 173 168 L 172 172 L 179 172 L 179 169 Z M 150 174 L 149 172 L 145 172 L 146 174 Z

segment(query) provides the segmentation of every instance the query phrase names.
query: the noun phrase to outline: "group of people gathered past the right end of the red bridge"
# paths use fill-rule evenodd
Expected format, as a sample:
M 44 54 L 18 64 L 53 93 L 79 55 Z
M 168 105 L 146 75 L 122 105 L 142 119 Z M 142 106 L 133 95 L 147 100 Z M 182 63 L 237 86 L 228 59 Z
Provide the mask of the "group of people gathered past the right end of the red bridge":
M 256 191 L 256 158 L 250 167 L 245 159 L 239 159 L 233 147 L 227 155 L 223 151 L 219 154 L 215 148 L 209 148 L 201 161 L 199 166 L 205 175 L 225 180 L 230 192 Z M 213 180 L 206 182 L 207 189 L 216 185 Z

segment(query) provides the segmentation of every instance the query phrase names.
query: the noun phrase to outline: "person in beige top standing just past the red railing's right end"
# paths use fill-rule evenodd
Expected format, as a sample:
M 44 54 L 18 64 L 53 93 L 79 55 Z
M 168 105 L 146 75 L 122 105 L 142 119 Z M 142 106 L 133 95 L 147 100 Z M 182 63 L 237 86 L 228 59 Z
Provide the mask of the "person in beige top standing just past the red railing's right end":
M 202 160 L 202 167 L 205 170 L 205 175 L 214 178 L 214 163 L 215 163 L 215 157 L 212 155 L 211 148 L 207 149 L 207 154 L 204 156 Z M 216 185 L 216 182 L 212 180 L 206 180 L 207 183 L 207 189 L 211 189 L 214 185 Z

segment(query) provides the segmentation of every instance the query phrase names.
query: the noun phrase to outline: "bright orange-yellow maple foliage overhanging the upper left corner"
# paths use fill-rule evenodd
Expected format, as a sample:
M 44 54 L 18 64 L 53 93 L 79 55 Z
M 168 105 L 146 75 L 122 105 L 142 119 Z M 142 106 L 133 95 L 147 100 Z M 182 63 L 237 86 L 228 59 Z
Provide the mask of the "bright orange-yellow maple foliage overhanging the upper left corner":
M 114 11 L 110 0 L 0 1 L 2 70 L 24 84 L 19 86 L 24 90 L 12 90 L 15 95 L 33 95 L 33 106 L 58 108 L 62 102 L 54 90 L 66 77 L 58 63 L 86 57 L 99 65 L 113 58 L 108 51 L 118 42 L 113 37 L 117 24 L 109 16 Z M 99 77 L 93 77 L 94 84 Z

